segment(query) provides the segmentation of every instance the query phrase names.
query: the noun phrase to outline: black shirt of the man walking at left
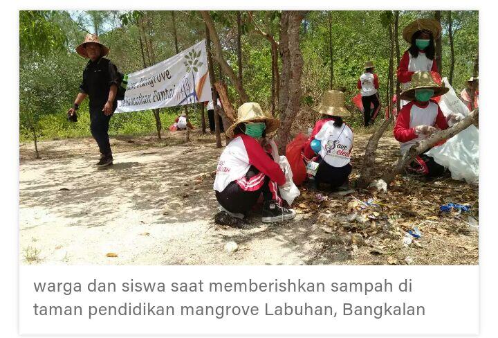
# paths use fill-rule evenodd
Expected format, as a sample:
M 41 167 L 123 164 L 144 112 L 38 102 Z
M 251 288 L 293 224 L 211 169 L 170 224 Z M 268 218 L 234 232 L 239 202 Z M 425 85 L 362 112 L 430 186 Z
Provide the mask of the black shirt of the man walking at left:
M 80 93 L 88 94 L 91 112 L 102 111 L 109 98 L 111 85 L 116 84 L 118 87 L 119 82 L 118 67 L 111 60 L 104 57 L 95 61 L 89 60 L 83 71 Z M 117 105 L 118 102 L 114 100 L 113 110 Z

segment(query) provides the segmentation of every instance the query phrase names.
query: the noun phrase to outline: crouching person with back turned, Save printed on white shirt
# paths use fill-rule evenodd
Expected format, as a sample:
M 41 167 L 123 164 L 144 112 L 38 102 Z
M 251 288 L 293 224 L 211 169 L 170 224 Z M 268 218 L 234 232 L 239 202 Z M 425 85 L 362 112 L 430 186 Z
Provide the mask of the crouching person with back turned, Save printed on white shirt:
M 344 107 L 342 91 L 326 91 L 322 102 L 315 108 L 322 118 L 315 123 L 308 142 L 304 145 L 304 156 L 317 163 L 312 188 L 329 184 L 331 190 L 347 190 L 351 174 L 351 150 L 353 130 L 342 121 L 351 113 Z M 313 177 L 310 177 L 313 179 Z

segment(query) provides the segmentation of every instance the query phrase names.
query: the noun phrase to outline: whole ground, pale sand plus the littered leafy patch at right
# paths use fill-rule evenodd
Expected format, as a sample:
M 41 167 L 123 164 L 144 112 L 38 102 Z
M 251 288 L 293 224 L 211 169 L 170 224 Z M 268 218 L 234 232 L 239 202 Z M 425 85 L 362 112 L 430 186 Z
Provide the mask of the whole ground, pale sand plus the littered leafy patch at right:
M 216 224 L 212 190 L 214 136 L 165 133 L 111 137 L 115 163 L 107 170 L 93 139 L 20 148 L 22 264 L 90 265 L 475 265 L 478 263 L 478 187 L 449 176 L 424 181 L 398 176 L 386 192 L 353 190 L 369 135 L 356 135 L 352 191 L 301 188 L 297 217 L 263 224 L 251 213 L 234 226 Z M 130 142 L 133 141 L 133 142 Z M 185 154 L 188 153 L 188 156 Z M 378 177 L 393 163 L 398 143 L 380 139 Z M 376 178 L 378 178 L 376 177 Z M 64 187 L 64 188 L 62 188 Z M 440 211 L 448 203 L 467 212 Z M 418 231 L 420 238 L 409 235 Z M 406 236 L 409 244 L 404 244 Z M 225 244 L 237 243 L 228 253 Z M 61 248 L 64 248 L 62 251 Z M 243 248 L 243 249 L 240 249 Z M 116 256 L 106 256 L 114 253 Z

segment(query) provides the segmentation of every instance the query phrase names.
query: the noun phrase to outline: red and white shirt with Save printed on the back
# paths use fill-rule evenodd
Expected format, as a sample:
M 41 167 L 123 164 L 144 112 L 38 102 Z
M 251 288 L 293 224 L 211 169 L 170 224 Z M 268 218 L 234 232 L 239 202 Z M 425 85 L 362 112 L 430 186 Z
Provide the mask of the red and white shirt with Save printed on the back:
M 319 154 L 330 166 L 340 168 L 351 161 L 353 149 L 353 131 L 346 123 L 334 127 L 333 118 L 322 118 L 315 123 L 310 138 L 304 145 L 304 156 L 308 159 L 315 157 L 311 149 L 311 141 L 318 140 L 322 143 Z

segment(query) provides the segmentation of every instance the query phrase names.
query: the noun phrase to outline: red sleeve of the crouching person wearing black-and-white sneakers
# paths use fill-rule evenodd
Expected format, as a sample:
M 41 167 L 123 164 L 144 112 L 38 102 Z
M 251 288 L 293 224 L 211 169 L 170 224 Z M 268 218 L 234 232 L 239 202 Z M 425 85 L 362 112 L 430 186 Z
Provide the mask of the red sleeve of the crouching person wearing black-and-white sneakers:
M 248 153 L 249 164 L 270 177 L 277 185 L 285 184 L 285 175 L 280 166 L 263 150 L 261 145 L 251 136 L 243 135 L 242 141 Z

